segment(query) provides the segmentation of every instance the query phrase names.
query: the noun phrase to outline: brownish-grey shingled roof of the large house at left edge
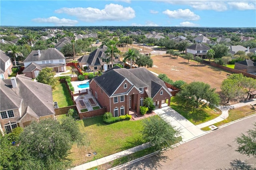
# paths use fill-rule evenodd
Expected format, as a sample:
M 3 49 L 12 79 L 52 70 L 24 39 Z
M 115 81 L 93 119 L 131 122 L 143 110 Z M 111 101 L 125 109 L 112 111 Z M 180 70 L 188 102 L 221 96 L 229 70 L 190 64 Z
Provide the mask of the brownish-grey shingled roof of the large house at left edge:
M 12 88 L 11 80 L 0 80 L 1 100 L 0 110 L 10 110 L 20 107 L 21 113 L 26 113 L 27 107 L 39 117 L 54 115 L 52 87 L 43 83 L 32 81 L 22 75 L 16 76 L 17 87 Z M 5 94 L 5 95 L 2 95 Z M 32 111 L 29 109 L 31 114 Z

